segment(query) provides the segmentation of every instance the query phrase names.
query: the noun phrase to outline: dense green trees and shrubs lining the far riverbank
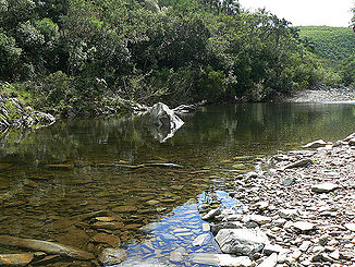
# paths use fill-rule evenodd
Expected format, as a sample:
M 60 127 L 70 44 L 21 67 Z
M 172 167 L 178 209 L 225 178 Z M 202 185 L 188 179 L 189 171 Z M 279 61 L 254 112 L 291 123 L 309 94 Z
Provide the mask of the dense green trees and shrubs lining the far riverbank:
M 230 0 L 4 0 L 0 63 L 29 106 L 64 117 L 342 83 L 290 22 Z

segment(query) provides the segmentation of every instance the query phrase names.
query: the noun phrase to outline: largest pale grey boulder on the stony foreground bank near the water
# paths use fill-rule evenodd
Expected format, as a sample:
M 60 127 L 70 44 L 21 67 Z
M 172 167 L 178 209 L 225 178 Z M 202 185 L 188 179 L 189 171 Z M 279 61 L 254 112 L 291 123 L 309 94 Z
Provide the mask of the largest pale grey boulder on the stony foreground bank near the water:
M 223 253 L 243 256 L 253 255 L 269 243 L 264 232 L 254 229 L 222 229 L 216 241 Z

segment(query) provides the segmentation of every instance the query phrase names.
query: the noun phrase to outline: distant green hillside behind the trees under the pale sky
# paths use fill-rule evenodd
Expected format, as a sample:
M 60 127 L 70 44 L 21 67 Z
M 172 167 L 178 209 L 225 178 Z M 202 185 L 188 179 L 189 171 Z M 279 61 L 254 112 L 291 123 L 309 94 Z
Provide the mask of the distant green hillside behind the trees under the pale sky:
M 343 60 L 355 52 L 355 34 L 347 27 L 301 26 L 299 36 L 315 45 L 315 52 L 330 60 Z

